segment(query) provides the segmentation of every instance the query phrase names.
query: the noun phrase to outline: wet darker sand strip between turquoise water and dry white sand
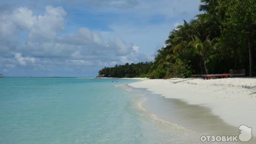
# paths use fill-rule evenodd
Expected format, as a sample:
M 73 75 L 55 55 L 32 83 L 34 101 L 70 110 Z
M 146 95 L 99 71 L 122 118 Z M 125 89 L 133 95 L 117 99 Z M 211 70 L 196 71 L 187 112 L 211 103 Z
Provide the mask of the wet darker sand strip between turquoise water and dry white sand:
M 143 95 L 147 101 L 142 106 L 149 113 L 158 118 L 178 124 L 185 129 L 193 130 L 202 135 L 239 135 L 238 127 L 233 127 L 222 120 L 218 115 L 213 115 L 211 109 L 203 105 L 188 104 L 180 99 L 165 98 L 154 94 L 147 89 L 132 88 L 134 95 Z M 241 121 L 241 124 L 242 121 Z M 254 144 L 255 137 L 247 144 Z M 239 143 L 241 143 L 239 141 Z

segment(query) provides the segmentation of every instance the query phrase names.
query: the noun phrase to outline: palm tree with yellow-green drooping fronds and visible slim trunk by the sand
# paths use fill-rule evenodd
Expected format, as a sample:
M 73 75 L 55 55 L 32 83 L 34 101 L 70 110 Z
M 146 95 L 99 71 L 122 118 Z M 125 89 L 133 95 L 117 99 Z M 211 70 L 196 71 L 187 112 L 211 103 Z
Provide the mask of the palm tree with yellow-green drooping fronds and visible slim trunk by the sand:
M 172 53 L 169 52 L 168 55 L 164 55 L 162 53 L 166 48 L 161 49 L 158 52 L 159 57 L 175 58 L 175 54 L 178 55 L 177 52 L 195 49 L 195 53 L 202 58 L 206 74 L 209 74 L 206 62 L 207 53 L 214 47 L 215 41 L 215 39 L 210 40 L 211 31 L 206 15 L 198 16 L 198 19 L 193 19 L 190 23 L 184 20 L 184 24 L 177 26 L 177 29 L 173 30 L 169 35 L 169 39 L 166 40 L 166 48 L 171 47 Z M 161 62 L 161 59 L 159 62 Z

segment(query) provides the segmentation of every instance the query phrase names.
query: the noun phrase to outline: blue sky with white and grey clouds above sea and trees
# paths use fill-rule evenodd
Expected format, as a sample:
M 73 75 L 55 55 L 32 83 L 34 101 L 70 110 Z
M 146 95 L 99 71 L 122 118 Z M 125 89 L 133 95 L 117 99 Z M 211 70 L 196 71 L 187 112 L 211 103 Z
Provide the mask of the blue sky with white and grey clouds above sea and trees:
M 152 61 L 200 0 L 0 0 L 0 73 L 96 76 Z

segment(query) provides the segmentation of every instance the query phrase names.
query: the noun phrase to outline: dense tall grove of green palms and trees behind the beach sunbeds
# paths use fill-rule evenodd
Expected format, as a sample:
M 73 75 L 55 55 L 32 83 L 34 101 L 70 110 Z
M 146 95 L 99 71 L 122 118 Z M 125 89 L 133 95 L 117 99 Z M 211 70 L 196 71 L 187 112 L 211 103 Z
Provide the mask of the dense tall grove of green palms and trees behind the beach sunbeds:
M 256 70 L 253 64 L 256 63 L 256 0 L 201 2 L 199 10 L 204 13 L 189 22 L 184 20 L 173 29 L 166 45 L 157 51 L 154 62 L 149 63 L 150 68 L 143 74 L 149 78 L 174 78 L 246 69 L 247 75 L 253 76 Z M 134 70 L 119 77 L 139 74 Z

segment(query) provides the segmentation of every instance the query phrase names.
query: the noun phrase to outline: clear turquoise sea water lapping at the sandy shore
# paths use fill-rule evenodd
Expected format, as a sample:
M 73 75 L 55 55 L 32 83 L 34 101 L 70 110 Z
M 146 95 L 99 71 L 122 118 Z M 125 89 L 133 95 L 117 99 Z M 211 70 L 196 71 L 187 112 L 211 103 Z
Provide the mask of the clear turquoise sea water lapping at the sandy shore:
M 199 143 L 141 107 L 137 80 L 0 78 L 1 144 Z

